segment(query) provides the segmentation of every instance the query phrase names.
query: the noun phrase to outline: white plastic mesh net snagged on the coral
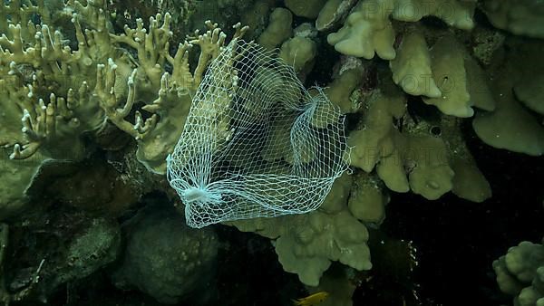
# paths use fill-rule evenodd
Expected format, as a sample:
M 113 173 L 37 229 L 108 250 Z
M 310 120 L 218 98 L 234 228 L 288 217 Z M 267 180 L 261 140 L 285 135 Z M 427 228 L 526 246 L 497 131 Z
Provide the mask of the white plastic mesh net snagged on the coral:
M 233 40 L 209 66 L 167 159 L 187 224 L 303 214 L 347 168 L 344 117 L 274 52 Z

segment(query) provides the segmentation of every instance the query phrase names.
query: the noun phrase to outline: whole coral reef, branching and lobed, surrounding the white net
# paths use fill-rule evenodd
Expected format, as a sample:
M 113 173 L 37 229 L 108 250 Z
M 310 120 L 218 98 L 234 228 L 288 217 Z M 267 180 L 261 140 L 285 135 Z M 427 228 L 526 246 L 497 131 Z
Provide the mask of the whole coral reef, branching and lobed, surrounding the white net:
M 163 303 L 212 302 L 195 292 L 228 253 L 227 228 L 269 241 L 303 291 L 331 293 L 324 305 L 351 305 L 394 257 L 380 245 L 395 197 L 485 204 L 505 166 L 483 171 L 475 148 L 544 154 L 542 12 L 539 0 L 2 1 L 0 301 L 46 302 L 106 275 Z M 242 35 L 342 111 L 350 170 L 316 211 L 189 230 L 166 158 L 210 62 Z M 291 152 L 276 161 L 293 166 Z M 493 263 L 515 305 L 542 303 L 542 253 L 524 242 Z

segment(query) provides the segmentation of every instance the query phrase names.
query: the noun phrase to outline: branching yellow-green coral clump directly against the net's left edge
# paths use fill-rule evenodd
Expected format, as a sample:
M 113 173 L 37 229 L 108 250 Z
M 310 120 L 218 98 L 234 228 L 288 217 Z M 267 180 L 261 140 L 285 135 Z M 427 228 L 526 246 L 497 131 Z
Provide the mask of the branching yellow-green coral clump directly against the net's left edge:
M 150 31 L 143 28 L 138 21 L 136 29 L 125 27 L 125 33 L 112 34 L 114 43 L 130 45 L 138 54 L 138 66 L 127 81 L 129 93 L 126 100 L 116 94 L 117 62 L 109 60 L 108 72 L 99 65 L 96 94 L 102 100 L 102 109 L 106 117 L 121 130 L 138 140 L 138 159 L 152 172 L 164 173 L 165 158 L 180 137 L 185 118 L 189 113 L 190 100 L 199 87 L 202 74 L 209 62 L 219 53 L 225 43 L 226 35 L 218 24 L 208 22 L 208 31 L 203 34 L 195 32 L 189 41 L 180 43 L 178 51 L 170 56 L 170 14 L 165 14 L 163 23 L 160 14 L 150 20 Z M 243 35 L 246 27 L 235 26 L 235 37 Z M 189 72 L 189 49 L 193 45 L 200 48 L 199 63 L 195 71 Z M 172 68 L 171 74 L 166 71 L 167 65 Z M 105 80 L 104 80 L 105 75 Z M 109 79 L 109 81 L 108 81 Z M 104 83 L 105 82 L 105 83 Z M 103 85 L 100 85 L 103 83 Z M 155 93 L 158 90 L 158 94 Z M 140 111 L 136 111 L 134 123 L 125 118 L 134 105 L 134 91 L 138 91 L 139 99 L 144 100 L 142 110 L 151 113 L 151 117 L 143 120 Z M 155 97 L 153 99 L 153 97 Z M 124 104 L 121 107 L 121 104 Z

